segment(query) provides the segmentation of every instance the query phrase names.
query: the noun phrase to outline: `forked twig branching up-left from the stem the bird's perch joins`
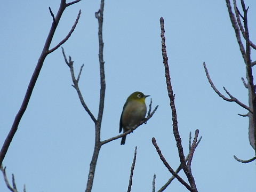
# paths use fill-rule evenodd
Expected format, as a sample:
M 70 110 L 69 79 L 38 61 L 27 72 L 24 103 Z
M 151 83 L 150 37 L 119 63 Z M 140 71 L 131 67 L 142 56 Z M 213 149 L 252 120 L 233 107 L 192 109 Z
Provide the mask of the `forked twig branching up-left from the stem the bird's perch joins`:
M 90 109 L 87 107 L 86 103 L 84 102 L 83 95 L 82 95 L 82 93 L 81 93 L 81 91 L 80 91 L 80 89 L 79 89 L 79 86 L 78 86 L 78 81 L 79 81 L 79 78 L 80 78 L 80 75 L 81 75 L 81 73 L 82 73 L 82 69 L 83 69 L 83 66 L 84 66 L 84 65 L 81 66 L 80 71 L 79 71 L 79 74 L 78 74 L 78 77 L 77 77 L 77 79 L 76 79 L 76 77 L 75 77 L 75 72 L 74 72 L 74 68 L 73 68 L 73 63 L 74 63 L 74 61 L 71 60 L 71 57 L 70 57 L 70 56 L 69 56 L 69 61 L 68 61 L 68 60 L 67 60 L 67 57 L 66 57 L 66 54 L 65 54 L 65 52 L 64 52 L 63 47 L 61 47 L 61 49 L 62 49 L 62 54 L 63 54 L 63 57 L 64 57 L 64 59 L 65 59 L 65 62 L 67 63 L 67 65 L 68 65 L 68 67 L 69 67 L 69 69 L 70 69 L 71 78 L 72 78 L 72 81 L 73 81 L 73 83 L 74 83 L 74 85 L 72 85 L 72 86 L 75 88 L 75 90 L 76 90 L 76 92 L 77 92 L 77 94 L 78 94 L 79 100 L 80 100 L 82 106 L 84 107 L 85 111 L 89 114 L 89 116 L 91 117 L 92 121 L 93 121 L 94 123 L 97 123 L 97 120 L 95 119 L 95 117 L 94 117 L 93 114 L 91 113 Z

